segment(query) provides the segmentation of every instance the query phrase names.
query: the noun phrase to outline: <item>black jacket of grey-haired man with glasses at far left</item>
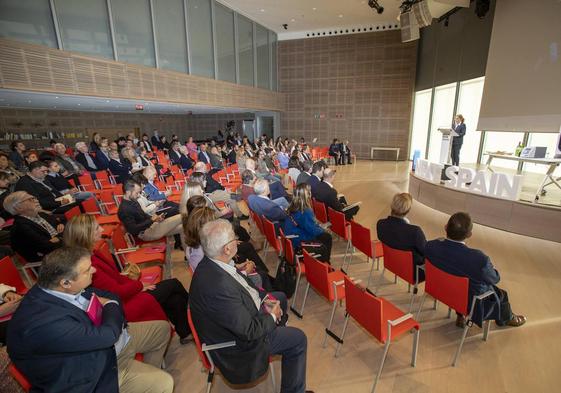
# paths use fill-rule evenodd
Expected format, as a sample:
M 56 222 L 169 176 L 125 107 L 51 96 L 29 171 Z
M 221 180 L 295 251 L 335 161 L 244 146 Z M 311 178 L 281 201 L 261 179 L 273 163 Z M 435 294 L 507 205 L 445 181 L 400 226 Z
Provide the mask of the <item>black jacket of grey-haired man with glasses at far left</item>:
M 53 228 L 60 224 L 52 215 L 39 213 Z M 52 243 L 49 232 L 41 225 L 33 221 L 16 216 L 14 225 L 10 229 L 10 241 L 12 249 L 25 258 L 28 262 L 38 262 L 45 255 L 59 247 L 62 247 L 62 239 L 58 243 Z

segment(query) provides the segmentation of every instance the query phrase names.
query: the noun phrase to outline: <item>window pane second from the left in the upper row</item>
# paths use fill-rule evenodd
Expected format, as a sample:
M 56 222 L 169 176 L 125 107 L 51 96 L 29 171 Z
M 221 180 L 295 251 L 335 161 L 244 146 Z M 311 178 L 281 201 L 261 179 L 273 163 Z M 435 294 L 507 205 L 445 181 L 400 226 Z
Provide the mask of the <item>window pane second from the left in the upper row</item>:
M 105 0 L 55 0 L 62 47 L 113 59 Z

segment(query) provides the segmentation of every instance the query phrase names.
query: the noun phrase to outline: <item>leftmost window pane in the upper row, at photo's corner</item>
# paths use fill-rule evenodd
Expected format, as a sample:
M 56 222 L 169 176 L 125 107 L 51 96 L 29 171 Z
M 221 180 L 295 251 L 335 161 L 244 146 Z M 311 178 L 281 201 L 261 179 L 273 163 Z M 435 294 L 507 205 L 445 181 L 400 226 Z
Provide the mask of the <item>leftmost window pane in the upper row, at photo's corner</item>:
M 49 1 L 0 1 L 0 37 L 58 48 Z

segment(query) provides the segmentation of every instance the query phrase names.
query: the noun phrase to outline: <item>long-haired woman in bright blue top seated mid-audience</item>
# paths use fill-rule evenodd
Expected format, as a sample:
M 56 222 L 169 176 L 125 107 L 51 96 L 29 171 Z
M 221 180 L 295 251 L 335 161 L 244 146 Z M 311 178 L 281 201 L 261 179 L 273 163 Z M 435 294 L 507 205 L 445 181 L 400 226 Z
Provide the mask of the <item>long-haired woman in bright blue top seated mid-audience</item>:
M 290 206 L 288 206 L 286 211 L 288 218 L 283 222 L 283 232 L 287 236 L 297 236 L 291 239 L 295 250 L 302 247 L 312 254 L 319 254 L 318 259 L 320 261 L 329 263 L 333 239 L 318 224 L 311 206 L 312 195 L 310 186 L 307 184 L 296 186 L 292 202 L 290 202 Z M 311 243 L 311 245 L 306 245 L 305 243 Z

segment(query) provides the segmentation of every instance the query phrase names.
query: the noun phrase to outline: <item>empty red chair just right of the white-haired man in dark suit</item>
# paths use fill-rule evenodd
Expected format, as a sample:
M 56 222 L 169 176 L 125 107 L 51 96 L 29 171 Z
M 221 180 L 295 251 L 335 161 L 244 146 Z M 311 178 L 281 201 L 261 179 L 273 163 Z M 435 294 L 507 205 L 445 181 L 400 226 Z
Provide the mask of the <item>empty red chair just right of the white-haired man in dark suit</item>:
M 337 342 L 341 341 L 341 339 L 331 331 L 331 325 L 333 324 L 337 302 L 345 300 L 343 278 L 345 278 L 346 275 L 340 270 L 333 270 L 327 263 L 312 257 L 306 250 L 303 250 L 302 253 L 304 255 L 304 266 L 308 285 L 306 285 L 306 292 L 304 292 L 304 300 L 302 301 L 302 307 L 299 313 L 301 316 L 304 315 L 304 306 L 306 305 L 310 286 L 313 287 L 320 296 L 324 297 L 332 304 L 331 317 L 329 318 L 329 324 L 325 328 L 325 338 L 323 339 L 323 347 L 325 347 L 328 335 Z

